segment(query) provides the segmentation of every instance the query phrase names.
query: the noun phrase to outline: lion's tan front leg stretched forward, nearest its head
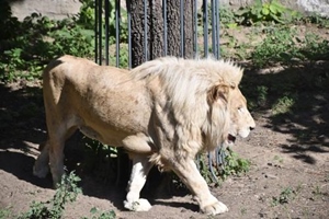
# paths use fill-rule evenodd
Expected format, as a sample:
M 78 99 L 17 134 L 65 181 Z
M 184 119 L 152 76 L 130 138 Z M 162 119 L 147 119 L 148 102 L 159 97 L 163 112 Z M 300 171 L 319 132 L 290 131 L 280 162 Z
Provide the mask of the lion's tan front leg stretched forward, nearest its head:
M 172 169 L 191 189 L 193 195 L 195 195 L 202 212 L 217 215 L 228 211 L 226 205 L 211 194 L 207 183 L 200 174 L 196 164 L 192 159 L 177 160 L 177 162 L 173 163 Z

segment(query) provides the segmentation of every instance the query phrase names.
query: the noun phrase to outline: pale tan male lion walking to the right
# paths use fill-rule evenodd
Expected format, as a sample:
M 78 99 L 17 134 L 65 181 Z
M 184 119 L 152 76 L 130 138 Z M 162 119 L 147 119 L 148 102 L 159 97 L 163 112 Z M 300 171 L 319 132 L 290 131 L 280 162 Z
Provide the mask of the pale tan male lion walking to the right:
M 49 166 L 56 185 L 64 174 L 65 140 L 80 129 L 129 154 L 126 209 L 151 208 L 139 193 L 158 165 L 181 178 L 202 212 L 223 214 L 228 208 L 211 194 L 194 158 L 254 128 L 241 78 L 241 68 L 212 58 L 163 57 L 131 71 L 67 55 L 55 59 L 43 73 L 48 138 L 34 174 L 45 177 Z

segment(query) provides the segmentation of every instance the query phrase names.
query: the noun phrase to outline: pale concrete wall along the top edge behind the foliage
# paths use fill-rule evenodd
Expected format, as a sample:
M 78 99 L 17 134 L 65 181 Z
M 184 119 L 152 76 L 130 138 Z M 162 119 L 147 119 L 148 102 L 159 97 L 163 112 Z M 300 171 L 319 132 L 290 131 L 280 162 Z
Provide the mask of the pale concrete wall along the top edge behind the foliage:
M 198 1 L 198 5 L 201 5 L 202 1 Z M 33 12 L 42 13 L 52 19 L 63 19 L 77 14 L 81 7 L 79 0 L 12 0 L 10 2 L 13 15 L 20 20 Z M 125 3 L 125 0 L 122 0 L 122 2 Z M 253 0 L 219 0 L 220 5 L 225 4 L 232 8 L 246 7 L 252 4 L 252 2 Z M 291 9 L 302 12 L 318 12 L 329 18 L 329 0 L 280 0 L 280 2 Z

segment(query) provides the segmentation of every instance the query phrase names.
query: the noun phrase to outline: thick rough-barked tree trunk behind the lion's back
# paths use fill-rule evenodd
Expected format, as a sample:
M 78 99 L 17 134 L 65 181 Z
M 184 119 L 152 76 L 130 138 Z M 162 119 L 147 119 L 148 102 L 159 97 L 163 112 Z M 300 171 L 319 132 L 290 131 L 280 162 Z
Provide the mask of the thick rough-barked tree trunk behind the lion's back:
M 163 8 L 160 0 L 146 0 L 147 49 L 145 49 L 144 0 L 127 0 L 126 2 L 132 16 L 132 67 L 136 67 L 164 54 Z M 183 0 L 183 4 L 184 22 L 181 25 L 180 1 L 167 1 L 168 55 L 191 58 L 193 57 L 194 3 Z M 181 26 L 183 27 L 183 37 L 181 36 Z M 182 44 L 183 46 L 181 46 Z

